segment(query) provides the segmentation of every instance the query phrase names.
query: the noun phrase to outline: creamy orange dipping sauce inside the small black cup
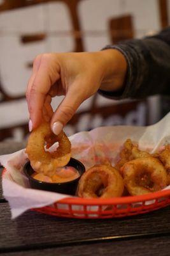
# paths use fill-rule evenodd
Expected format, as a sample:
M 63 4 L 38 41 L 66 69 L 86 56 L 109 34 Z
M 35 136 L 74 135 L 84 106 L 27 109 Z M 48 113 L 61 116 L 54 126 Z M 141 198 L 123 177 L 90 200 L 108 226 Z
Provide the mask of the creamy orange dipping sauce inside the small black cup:
M 56 173 L 52 177 L 48 177 L 42 173 L 32 173 L 31 177 L 43 182 L 62 183 L 77 179 L 80 177 L 80 173 L 72 166 L 64 166 L 57 168 Z

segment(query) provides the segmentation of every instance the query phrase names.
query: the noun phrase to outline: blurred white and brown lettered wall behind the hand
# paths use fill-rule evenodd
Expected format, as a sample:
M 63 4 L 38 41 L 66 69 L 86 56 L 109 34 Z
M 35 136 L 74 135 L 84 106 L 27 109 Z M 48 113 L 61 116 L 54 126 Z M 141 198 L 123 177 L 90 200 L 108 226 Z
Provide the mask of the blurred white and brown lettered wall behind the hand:
M 0 0 L 0 141 L 27 136 L 25 90 L 37 54 L 98 51 L 152 35 L 168 26 L 169 11 L 170 0 Z M 60 100 L 53 100 L 54 108 Z M 158 95 L 140 101 L 95 95 L 83 102 L 65 131 L 154 124 L 169 105 Z

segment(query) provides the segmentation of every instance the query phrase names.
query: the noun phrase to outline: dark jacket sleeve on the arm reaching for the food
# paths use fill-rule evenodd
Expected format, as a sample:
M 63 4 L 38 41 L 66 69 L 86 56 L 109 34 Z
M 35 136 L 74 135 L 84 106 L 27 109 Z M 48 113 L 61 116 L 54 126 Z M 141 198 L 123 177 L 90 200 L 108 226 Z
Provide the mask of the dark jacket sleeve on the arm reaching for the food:
M 127 40 L 104 49 L 117 49 L 127 60 L 127 77 L 120 92 L 99 90 L 113 99 L 141 99 L 148 95 L 170 95 L 170 28 L 142 40 Z

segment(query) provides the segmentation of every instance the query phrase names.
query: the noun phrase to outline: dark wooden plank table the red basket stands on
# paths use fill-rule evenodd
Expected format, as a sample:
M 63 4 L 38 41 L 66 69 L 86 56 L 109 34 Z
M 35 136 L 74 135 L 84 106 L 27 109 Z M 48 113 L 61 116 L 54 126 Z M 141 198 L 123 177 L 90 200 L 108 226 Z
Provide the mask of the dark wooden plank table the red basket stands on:
M 22 147 L 0 143 L 0 154 Z M 170 255 L 170 207 L 110 220 L 71 220 L 32 211 L 11 220 L 0 188 L 0 254 Z

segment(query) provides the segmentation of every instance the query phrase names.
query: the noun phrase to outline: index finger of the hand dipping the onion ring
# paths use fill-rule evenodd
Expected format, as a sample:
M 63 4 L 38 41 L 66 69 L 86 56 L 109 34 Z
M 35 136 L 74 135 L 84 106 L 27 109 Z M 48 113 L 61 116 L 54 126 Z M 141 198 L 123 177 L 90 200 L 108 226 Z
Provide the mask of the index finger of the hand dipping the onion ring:
M 46 95 L 52 84 L 60 78 L 59 71 L 59 65 L 53 61 L 52 54 L 41 54 L 34 61 L 32 76 L 29 79 L 26 92 L 33 129 L 38 127 L 42 120 Z

